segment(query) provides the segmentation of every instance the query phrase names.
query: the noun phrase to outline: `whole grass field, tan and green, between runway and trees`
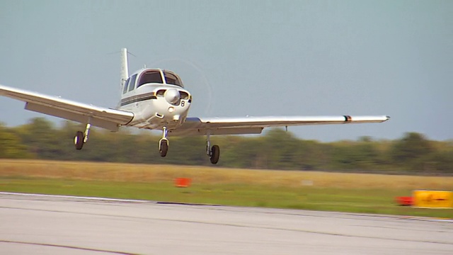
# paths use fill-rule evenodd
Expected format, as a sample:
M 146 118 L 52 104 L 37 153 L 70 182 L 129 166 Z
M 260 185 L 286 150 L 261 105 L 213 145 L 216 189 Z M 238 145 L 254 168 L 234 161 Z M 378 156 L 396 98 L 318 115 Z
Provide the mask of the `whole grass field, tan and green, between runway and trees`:
M 177 177 L 193 185 L 175 188 Z M 394 198 L 452 184 L 452 177 L 0 160 L 0 191 L 427 217 L 453 218 L 453 209 L 401 207 Z

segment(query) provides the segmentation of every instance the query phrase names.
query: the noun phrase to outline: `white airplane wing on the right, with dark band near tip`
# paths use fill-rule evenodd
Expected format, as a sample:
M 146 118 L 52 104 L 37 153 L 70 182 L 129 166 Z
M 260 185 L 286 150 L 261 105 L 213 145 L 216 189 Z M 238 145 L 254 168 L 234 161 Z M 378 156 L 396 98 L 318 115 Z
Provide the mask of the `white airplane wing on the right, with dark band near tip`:
M 264 128 L 293 125 L 382 123 L 389 116 L 269 116 L 245 118 L 187 118 L 170 135 L 244 135 L 260 134 Z

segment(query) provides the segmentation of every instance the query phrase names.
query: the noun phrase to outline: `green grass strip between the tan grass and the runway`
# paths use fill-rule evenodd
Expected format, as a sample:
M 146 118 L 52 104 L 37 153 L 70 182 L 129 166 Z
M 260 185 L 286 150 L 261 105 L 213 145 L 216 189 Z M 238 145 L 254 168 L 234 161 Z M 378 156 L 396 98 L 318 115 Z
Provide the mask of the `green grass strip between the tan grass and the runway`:
M 411 189 L 407 188 L 319 188 L 246 183 L 194 183 L 189 188 L 176 188 L 173 179 L 131 182 L 3 176 L 0 177 L 0 191 L 453 218 L 453 209 L 415 209 L 396 205 L 395 196 L 411 194 Z

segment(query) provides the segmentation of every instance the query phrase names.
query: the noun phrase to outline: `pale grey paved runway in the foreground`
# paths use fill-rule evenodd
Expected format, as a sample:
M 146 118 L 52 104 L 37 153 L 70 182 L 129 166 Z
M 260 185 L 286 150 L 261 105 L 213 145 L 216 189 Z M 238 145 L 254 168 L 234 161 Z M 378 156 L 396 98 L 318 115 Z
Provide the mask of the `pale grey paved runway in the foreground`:
M 453 254 L 453 222 L 0 193 L 0 254 Z

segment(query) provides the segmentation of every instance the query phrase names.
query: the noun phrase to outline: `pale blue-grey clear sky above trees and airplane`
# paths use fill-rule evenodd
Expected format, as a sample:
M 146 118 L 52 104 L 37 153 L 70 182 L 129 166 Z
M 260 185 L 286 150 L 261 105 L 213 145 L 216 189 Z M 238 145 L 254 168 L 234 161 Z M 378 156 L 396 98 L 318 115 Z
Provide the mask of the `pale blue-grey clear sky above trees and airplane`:
M 0 84 L 96 106 L 130 70 L 177 72 L 191 116 L 390 115 L 309 140 L 453 139 L 453 1 L 0 1 Z M 0 121 L 44 116 L 0 98 Z M 50 120 L 60 123 L 57 118 Z

